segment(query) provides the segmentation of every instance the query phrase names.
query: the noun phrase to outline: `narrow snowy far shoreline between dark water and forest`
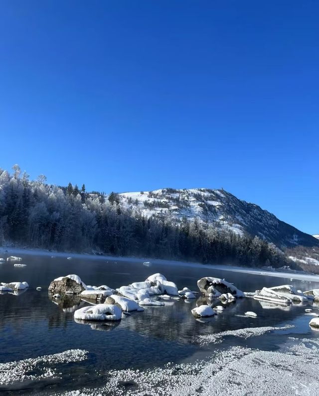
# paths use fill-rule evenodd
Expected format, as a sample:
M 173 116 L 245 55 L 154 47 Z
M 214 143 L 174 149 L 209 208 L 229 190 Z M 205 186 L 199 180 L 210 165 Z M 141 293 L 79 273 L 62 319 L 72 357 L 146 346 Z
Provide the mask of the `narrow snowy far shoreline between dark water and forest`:
M 7 252 L 5 252 L 7 251 Z M 242 273 L 249 273 L 251 275 L 261 275 L 261 276 L 274 276 L 279 278 L 293 278 L 296 280 L 310 280 L 319 282 L 319 275 L 311 275 L 311 274 L 301 274 L 301 273 L 294 273 L 294 272 L 277 272 L 277 271 L 265 271 L 261 268 L 249 268 L 249 267 L 242 267 L 238 265 L 227 265 L 227 264 L 202 264 L 202 263 L 195 263 L 195 262 L 181 262 L 176 260 L 164 260 L 164 259 L 150 259 L 150 258 L 137 258 L 137 257 L 115 257 L 115 256 L 99 256 L 93 255 L 88 253 L 68 253 L 68 252 L 55 252 L 55 251 L 47 251 L 44 249 L 23 249 L 23 248 L 11 248 L 11 247 L 0 247 L 0 255 L 38 255 L 38 256 L 55 256 L 55 257 L 71 257 L 75 259 L 86 259 L 89 258 L 90 260 L 107 260 L 107 261 L 122 261 L 127 262 L 131 261 L 134 263 L 138 262 L 151 262 L 153 264 L 160 264 L 160 265 L 174 265 L 180 267 L 193 267 L 196 268 L 198 266 L 202 268 L 209 268 L 209 269 L 219 269 L 224 271 L 231 271 L 231 272 L 242 272 Z

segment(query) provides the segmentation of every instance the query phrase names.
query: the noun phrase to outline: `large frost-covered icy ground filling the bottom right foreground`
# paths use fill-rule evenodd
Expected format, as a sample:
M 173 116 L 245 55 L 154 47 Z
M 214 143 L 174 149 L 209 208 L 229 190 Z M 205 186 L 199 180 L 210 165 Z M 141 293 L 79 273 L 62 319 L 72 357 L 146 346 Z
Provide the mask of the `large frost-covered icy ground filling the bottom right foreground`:
M 108 373 L 107 384 L 67 396 L 304 395 L 319 389 L 319 340 L 294 339 L 280 352 L 231 347 L 208 361 Z

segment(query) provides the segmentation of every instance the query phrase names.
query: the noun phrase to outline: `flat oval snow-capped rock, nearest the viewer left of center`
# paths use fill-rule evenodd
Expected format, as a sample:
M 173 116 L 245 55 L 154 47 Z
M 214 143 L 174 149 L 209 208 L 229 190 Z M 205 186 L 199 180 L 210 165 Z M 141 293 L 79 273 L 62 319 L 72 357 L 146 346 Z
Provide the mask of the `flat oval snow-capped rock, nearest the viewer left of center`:
M 82 320 L 120 320 L 122 310 L 116 305 L 97 304 L 77 309 L 74 312 L 74 318 Z

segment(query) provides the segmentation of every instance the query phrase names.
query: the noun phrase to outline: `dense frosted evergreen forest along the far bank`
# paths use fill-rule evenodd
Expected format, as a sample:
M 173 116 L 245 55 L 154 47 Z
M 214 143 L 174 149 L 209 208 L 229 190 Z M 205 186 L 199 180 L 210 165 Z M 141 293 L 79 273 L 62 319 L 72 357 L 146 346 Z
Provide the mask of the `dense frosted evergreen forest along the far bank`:
M 291 264 L 274 244 L 238 236 L 197 219 L 149 218 L 118 194 L 29 180 L 18 165 L 0 169 L 0 244 L 57 251 L 242 265 Z

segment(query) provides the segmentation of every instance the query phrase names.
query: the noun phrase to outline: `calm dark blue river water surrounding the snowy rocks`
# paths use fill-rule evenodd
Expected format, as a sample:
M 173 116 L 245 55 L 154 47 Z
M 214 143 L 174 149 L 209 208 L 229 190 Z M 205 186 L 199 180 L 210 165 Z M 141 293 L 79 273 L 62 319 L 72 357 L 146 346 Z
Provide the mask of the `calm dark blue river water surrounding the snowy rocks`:
M 6 258 L 12 254 L 0 252 Z M 14 254 L 16 255 L 16 254 Z M 293 284 L 302 290 L 319 288 L 319 283 L 252 275 L 198 266 L 152 264 L 145 266 L 136 261 L 110 261 L 102 257 L 82 256 L 67 260 L 67 256 L 51 258 L 45 255 L 19 254 L 25 267 L 13 263 L 0 264 L 0 281 L 27 281 L 29 289 L 19 295 L 0 295 L 0 363 L 34 358 L 63 352 L 68 349 L 89 351 L 88 359 L 63 368 L 63 390 L 74 385 L 97 386 L 101 381 L 97 371 L 126 368 L 148 368 L 167 362 L 191 361 L 204 356 L 209 348 L 225 348 L 231 344 L 247 345 L 274 350 L 280 348 L 288 336 L 318 337 L 309 328 L 311 316 L 305 315 L 308 304 L 293 305 L 286 309 L 266 309 L 251 298 L 229 304 L 222 314 L 204 322 L 194 319 L 191 309 L 200 305 L 200 299 L 185 302 L 169 300 L 163 307 L 145 307 L 144 312 L 133 312 L 119 323 L 76 323 L 74 310 L 86 305 L 77 297 L 70 297 L 57 305 L 48 298 L 47 288 L 54 278 L 75 273 L 86 284 L 107 284 L 113 288 L 134 281 L 145 280 L 160 272 L 178 288 L 185 286 L 197 290 L 197 280 L 203 276 L 225 278 L 243 291 L 254 291 L 263 286 Z M 289 275 L 293 276 L 293 275 Z M 36 287 L 42 290 L 37 291 Z M 216 305 L 219 305 L 216 303 Z M 257 318 L 242 317 L 254 311 Z M 237 316 L 239 315 L 239 316 Z M 272 332 L 262 337 L 236 339 L 230 337 L 222 346 L 199 347 L 198 335 L 246 327 L 284 326 L 295 328 L 285 332 Z M 36 384 L 0 387 L 5 393 L 58 392 L 61 380 L 41 381 Z

